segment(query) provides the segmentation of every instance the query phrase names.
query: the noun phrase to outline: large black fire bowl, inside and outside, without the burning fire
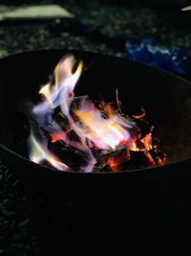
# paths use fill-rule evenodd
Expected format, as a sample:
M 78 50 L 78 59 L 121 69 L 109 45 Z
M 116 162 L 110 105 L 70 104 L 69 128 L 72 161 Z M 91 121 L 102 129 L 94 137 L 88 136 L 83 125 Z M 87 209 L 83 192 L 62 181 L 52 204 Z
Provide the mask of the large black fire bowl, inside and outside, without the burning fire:
M 166 164 L 118 174 L 53 170 L 27 159 L 30 113 L 23 108 L 29 101 L 39 103 L 39 84 L 49 80 L 65 54 L 41 51 L 0 61 L 1 156 L 32 191 L 32 220 L 44 251 L 88 255 L 92 246 L 93 255 L 182 254 L 189 247 L 182 233 L 188 228 L 191 192 L 190 83 L 137 62 L 74 52 L 85 67 L 76 95 L 100 99 L 101 93 L 114 102 L 118 89 L 128 114 L 137 115 L 143 106 Z

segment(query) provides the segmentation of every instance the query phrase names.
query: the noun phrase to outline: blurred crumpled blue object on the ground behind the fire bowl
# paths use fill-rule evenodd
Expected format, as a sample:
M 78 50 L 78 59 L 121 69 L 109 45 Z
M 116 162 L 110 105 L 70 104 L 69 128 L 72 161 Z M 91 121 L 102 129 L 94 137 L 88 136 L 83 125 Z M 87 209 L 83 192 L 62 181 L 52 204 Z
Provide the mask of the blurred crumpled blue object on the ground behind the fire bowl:
M 191 57 L 181 47 L 159 45 L 153 38 L 126 41 L 127 57 L 179 75 L 191 74 Z

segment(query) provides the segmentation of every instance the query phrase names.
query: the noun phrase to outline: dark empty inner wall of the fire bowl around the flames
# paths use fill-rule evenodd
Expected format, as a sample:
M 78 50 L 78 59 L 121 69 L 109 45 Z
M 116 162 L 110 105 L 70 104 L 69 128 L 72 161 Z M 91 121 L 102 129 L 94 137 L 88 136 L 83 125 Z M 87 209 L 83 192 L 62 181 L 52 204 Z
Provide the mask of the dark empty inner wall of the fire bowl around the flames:
M 26 132 L 29 103 L 37 103 L 40 85 L 53 74 L 53 68 L 65 54 L 42 51 L 1 60 L 1 144 L 27 156 Z M 92 100 L 102 97 L 116 101 L 116 89 L 123 112 L 146 111 L 145 119 L 154 125 L 161 141 L 166 163 L 191 156 L 191 84 L 157 69 L 128 61 L 89 53 L 74 53 L 84 61 L 84 71 L 75 87 L 75 95 L 88 94 Z M 23 143 L 23 145 L 22 145 Z M 25 150 L 21 150 L 25 149 Z

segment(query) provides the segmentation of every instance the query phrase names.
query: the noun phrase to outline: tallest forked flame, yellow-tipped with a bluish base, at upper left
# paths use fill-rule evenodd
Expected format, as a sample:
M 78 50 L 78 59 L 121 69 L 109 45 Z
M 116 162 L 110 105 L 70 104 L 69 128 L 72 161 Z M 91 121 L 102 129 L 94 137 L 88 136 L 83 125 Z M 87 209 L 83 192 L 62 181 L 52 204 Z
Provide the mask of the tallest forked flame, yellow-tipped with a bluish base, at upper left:
M 74 68 L 74 63 L 74 56 L 69 55 L 62 58 L 53 72 L 54 84 L 49 82 L 40 89 L 39 94 L 43 95 L 46 100 L 43 103 L 34 106 L 32 112 L 38 118 L 38 122 L 41 121 L 41 124 L 44 123 L 44 116 L 47 115 L 49 116 L 49 118 L 47 118 L 49 123 L 53 121 L 53 119 L 50 118 L 50 114 L 53 113 L 53 108 L 58 105 L 66 116 L 70 116 L 69 109 L 72 102 L 70 99 L 71 96 L 73 96 L 74 86 L 83 69 L 83 62 L 79 61 L 73 74 L 72 70 Z M 40 120 L 40 118 L 43 120 Z

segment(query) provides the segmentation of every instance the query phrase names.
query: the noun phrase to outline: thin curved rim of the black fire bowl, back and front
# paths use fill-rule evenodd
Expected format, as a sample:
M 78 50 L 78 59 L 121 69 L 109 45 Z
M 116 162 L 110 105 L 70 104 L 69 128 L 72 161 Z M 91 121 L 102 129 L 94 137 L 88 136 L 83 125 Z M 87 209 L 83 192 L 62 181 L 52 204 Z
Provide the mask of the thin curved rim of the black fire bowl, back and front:
M 172 78 L 175 78 L 179 81 L 183 81 L 183 82 L 186 82 L 187 84 L 189 84 L 191 86 L 191 81 L 187 81 L 186 79 L 176 75 L 176 74 L 173 74 L 173 73 L 170 73 L 168 71 L 165 71 L 165 70 L 162 70 L 160 68 L 157 68 L 157 67 L 153 67 L 149 64 L 144 64 L 142 62 L 139 62 L 139 61 L 135 61 L 135 60 L 130 60 L 130 59 L 126 59 L 126 58 L 120 58 L 120 57 L 116 57 L 116 56 L 112 56 L 112 55 L 106 55 L 106 54 L 99 54 L 99 53 L 96 53 L 96 52 L 89 52 L 89 51 L 78 51 L 78 50 L 70 50 L 70 49 L 51 49 L 51 50 L 34 50 L 34 51 L 25 51 L 25 52 L 19 52 L 19 53 L 16 53 L 16 54 L 12 54 L 10 56 L 7 56 L 5 58 L 0 58 L 0 63 L 1 62 L 4 62 L 4 61 L 7 61 L 7 59 L 10 59 L 10 58 L 16 58 L 17 56 L 24 56 L 24 55 L 37 55 L 37 54 L 40 54 L 40 53 L 60 53 L 62 55 L 65 55 L 65 54 L 74 54 L 74 56 L 80 56 L 81 54 L 87 54 L 87 55 L 91 55 L 91 56 L 95 56 L 96 58 L 99 57 L 99 58 L 113 58 L 113 59 L 123 59 L 124 61 L 127 61 L 127 62 L 132 62 L 132 63 L 137 63 L 139 66 L 146 66 L 146 68 L 148 69 L 151 69 L 151 70 L 158 70 L 158 72 L 160 72 L 161 74 L 165 74 L 167 76 L 170 76 Z M 94 60 L 96 61 L 96 60 Z M 33 165 L 34 167 L 40 167 L 40 169 L 44 170 L 44 171 L 49 171 L 51 173 L 56 173 L 56 174 L 64 174 L 64 175 L 120 175 L 120 174 L 124 174 L 124 173 L 139 173 L 139 172 L 152 172 L 153 169 L 163 169 L 165 168 L 166 166 L 176 166 L 177 164 L 180 164 L 182 162 L 190 162 L 191 160 L 191 155 L 188 156 L 188 157 L 184 157 L 182 159 L 179 159 L 177 161 L 174 161 L 174 162 L 171 162 L 171 163 L 167 163 L 167 164 L 164 164 L 164 165 L 161 165 L 161 166 L 155 166 L 155 167 L 148 167 L 148 168 L 138 168 L 138 169 L 131 169 L 131 170 L 121 170 L 117 173 L 113 173 L 113 172 L 101 172 L 101 171 L 96 171 L 96 172 L 90 172 L 90 173 L 84 173 L 84 172 L 76 172 L 76 171 L 73 171 L 73 172 L 67 172 L 67 171 L 61 171 L 61 170 L 58 170 L 58 169 L 53 169 L 51 167 L 48 167 L 48 166 L 43 166 L 43 165 L 40 165 L 40 164 L 36 164 L 34 162 L 32 162 L 29 158 L 27 157 L 24 157 L 23 155 L 15 152 L 15 151 L 12 151 L 11 149 L 9 149 L 8 147 L 4 146 L 3 144 L 1 144 L 0 142 L 0 150 L 2 151 L 7 151 L 8 153 L 11 153 L 13 154 L 15 157 L 18 157 L 19 159 L 21 159 L 22 161 L 25 161 L 25 162 L 28 162 L 30 163 L 30 165 Z M 1 157 L 3 160 L 4 160 L 4 157 Z

